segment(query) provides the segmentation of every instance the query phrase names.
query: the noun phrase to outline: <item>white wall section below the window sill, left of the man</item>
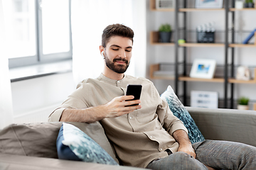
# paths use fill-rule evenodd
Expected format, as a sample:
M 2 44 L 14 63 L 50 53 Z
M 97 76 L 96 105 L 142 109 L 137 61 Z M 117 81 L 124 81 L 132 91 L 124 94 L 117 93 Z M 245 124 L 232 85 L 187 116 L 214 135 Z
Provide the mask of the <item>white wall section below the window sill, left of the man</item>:
M 75 86 L 72 72 L 11 83 L 14 122 L 46 122 Z

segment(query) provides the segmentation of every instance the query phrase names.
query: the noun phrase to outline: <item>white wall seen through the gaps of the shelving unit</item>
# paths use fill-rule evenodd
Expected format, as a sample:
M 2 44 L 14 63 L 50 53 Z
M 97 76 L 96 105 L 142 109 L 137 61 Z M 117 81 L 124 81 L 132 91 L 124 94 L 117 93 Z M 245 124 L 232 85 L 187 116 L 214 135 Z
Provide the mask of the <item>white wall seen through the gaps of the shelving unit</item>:
M 255 11 L 237 11 L 235 12 L 235 29 L 236 30 L 253 30 L 256 28 Z M 182 18 L 182 13 L 179 14 L 179 18 Z M 161 23 L 171 23 L 174 28 L 174 12 L 159 12 L 150 11 L 149 2 L 147 4 L 146 11 L 146 31 L 149 35 L 150 31 L 158 30 Z M 188 30 L 196 30 L 196 26 L 203 23 L 215 22 L 215 28 L 222 33 L 216 33 L 215 42 L 224 42 L 224 30 L 225 30 L 225 12 L 224 11 L 198 11 L 188 12 L 187 26 Z M 231 18 L 230 18 L 231 21 Z M 180 21 L 180 23 L 182 23 Z M 229 28 L 231 24 L 229 24 Z M 236 34 L 235 40 L 241 42 L 249 33 Z M 196 33 L 189 33 L 188 40 L 196 42 Z M 158 62 L 174 62 L 174 47 L 169 46 L 156 46 L 149 45 L 149 36 L 147 36 L 147 68 L 149 71 L 150 64 L 156 64 Z M 250 42 L 254 42 L 251 40 Z M 182 48 L 180 49 L 182 50 Z M 192 63 L 196 58 L 211 58 L 217 61 L 217 64 L 225 64 L 224 47 L 187 47 L 187 62 Z M 179 52 L 182 54 L 182 52 Z M 229 50 L 230 54 L 230 50 Z M 256 47 L 244 47 L 235 49 L 235 65 L 256 66 Z M 180 55 L 179 60 L 183 60 L 183 55 Z M 229 57 L 229 62 L 231 58 Z M 252 70 L 253 71 L 253 70 Z M 253 72 L 252 72 L 253 74 Z M 253 75 L 252 75 L 253 76 Z M 153 80 L 159 93 L 166 90 L 166 87 L 170 84 L 174 87 L 174 81 L 167 80 Z M 179 84 L 182 86 L 182 84 Z M 191 90 L 200 91 L 218 91 L 219 97 L 224 97 L 224 84 L 222 83 L 207 83 L 207 82 L 188 82 L 188 94 Z M 228 86 L 230 88 L 230 86 Z M 182 88 L 179 88 L 180 90 Z M 180 94 L 183 94 L 180 91 Z M 228 94 L 230 95 L 230 94 Z M 256 100 L 255 84 L 235 84 L 235 98 L 240 96 L 247 96 L 251 100 Z M 252 108 L 252 103 L 250 103 Z

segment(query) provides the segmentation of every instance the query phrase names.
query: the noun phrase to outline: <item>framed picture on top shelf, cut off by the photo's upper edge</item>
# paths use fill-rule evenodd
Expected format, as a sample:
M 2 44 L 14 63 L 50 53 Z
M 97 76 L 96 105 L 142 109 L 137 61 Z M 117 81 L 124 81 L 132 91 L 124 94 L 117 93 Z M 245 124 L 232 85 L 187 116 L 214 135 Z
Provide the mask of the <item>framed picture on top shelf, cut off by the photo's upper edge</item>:
M 196 0 L 196 8 L 223 8 L 223 0 Z

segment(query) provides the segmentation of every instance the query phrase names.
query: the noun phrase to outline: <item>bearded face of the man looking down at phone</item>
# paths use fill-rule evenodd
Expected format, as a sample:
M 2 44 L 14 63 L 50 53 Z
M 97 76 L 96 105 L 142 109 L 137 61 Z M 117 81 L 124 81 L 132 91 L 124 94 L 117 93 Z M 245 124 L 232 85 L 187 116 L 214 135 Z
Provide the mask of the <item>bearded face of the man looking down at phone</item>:
M 113 36 L 105 47 L 105 63 L 109 69 L 119 74 L 126 72 L 132 57 L 132 40 Z

